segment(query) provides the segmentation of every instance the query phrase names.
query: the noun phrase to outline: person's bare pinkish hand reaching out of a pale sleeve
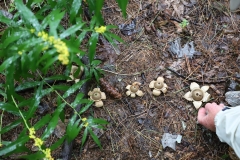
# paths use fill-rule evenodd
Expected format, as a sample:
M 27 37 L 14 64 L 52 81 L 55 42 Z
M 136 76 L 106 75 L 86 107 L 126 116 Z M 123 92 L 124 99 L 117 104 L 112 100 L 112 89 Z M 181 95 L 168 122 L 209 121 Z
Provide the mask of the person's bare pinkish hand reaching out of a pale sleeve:
M 205 108 L 200 108 L 198 110 L 198 122 L 210 129 L 211 131 L 216 131 L 214 118 L 219 111 L 223 109 L 224 105 L 217 105 L 216 103 L 207 103 Z

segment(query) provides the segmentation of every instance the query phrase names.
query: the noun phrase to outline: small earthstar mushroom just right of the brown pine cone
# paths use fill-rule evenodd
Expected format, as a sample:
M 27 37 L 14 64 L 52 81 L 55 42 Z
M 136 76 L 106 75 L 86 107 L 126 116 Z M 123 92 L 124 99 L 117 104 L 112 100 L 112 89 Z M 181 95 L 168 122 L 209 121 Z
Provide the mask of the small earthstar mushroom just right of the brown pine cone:
M 139 82 L 133 82 L 132 85 L 127 85 L 126 89 L 128 90 L 126 92 L 127 96 L 131 96 L 132 98 L 136 97 L 136 95 L 138 96 L 143 96 L 144 93 L 140 90 L 140 85 L 141 83 Z

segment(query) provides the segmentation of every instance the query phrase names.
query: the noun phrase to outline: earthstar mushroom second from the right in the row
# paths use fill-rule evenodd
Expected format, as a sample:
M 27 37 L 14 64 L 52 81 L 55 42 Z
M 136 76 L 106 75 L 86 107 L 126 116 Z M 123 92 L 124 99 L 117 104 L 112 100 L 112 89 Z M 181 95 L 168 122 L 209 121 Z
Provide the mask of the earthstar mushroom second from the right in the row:
M 163 77 L 158 77 L 156 81 L 151 81 L 149 84 L 149 88 L 154 88 L 153 89 L 153 95 L 154 96 L 159 96 L 162 93 L 167 92 L 167 84 L 164 83 L 164 78 Z

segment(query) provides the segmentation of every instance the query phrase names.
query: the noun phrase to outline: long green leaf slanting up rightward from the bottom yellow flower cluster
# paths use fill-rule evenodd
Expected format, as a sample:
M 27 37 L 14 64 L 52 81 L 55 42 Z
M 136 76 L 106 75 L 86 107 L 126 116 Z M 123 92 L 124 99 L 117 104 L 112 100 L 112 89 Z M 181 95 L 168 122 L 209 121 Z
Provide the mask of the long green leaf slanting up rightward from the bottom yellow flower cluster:
M 44 131 L 42 135 L 42 139 L 46 139 L 49 137 L 49 135 L 54 131 L 55 127 L 57 126 L 58 120 L 59 120 L 59 114 L 62 112 L 63 108 L 65 107 L 65 103 L 62 103 L 57 107 L 55 112 L 53 113 L 53 118 L 50 120 L 46 130 Z

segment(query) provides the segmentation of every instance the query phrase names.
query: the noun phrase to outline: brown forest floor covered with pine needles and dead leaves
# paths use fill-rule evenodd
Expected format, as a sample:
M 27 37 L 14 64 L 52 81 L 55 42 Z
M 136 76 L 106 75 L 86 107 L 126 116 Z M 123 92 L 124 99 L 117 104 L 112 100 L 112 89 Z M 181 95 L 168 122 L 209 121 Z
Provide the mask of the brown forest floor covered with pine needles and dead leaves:
M 226 82 L 234 78 L 235 73 L 240 73 L 240 62 L 237 61 L 240 55 L 240 14 L 230 13 L 228 2 L 223 0 L 202 0 L 189 7 L 183 5 L 183 1 L 179 4 L 175 1 L 176 10 L 173 5 L 165 8 L 164 4 L 168 1 L 129 0 L 127 19 L 122 18 L 114 0 L 106 1 L 103 9 L 106 24 L 128 24 L 136 19 L 138 32 L 124 36 L 116 31 L 126 42 L 119 44 L 118 56 L 111 46 L 99 44 L 98 48 L 102 50 L 97 56 L 103 59 L 104 80 L 123 96 L 114 99 L 107 93 L 104 107 L 93 107 L 90 111 L 95 117 L 109 121 L 99 137 L 103 149 L 99 149 L 89 138 L 80 153 L 79 135 L 72 159 L 230 159 L 228 145 L 221 143 L 214 132 L 197 124 L 197 110 L 183 95 L 189 91 L 192 81 L 200 81 L 201 86 L 211 85 L 208 91 L 212 95 L 210 102 L 226 104 Z M 184 9 L 182 13 L 181 5 Z M 182 18 L 187 19 L 189 25 L 179 33 L 176 20 L 181 21 Z M 195 50 L 201 55 L 180 59 L 171 54 L 170 44 L 177 38 L 181 38 L 182 45 L 193 41 Z M 168 67 L 183 77 L 167 70 Z M 158 76 L 165 78 L 168 91 L 154 97 L 148 84 Z M 135 81 L 142 83 L 143 97 L 126 96 L 125 87 Z M 53 103 L 52 100 L 49 103 Z M 13 118 L 9 115 L 6 120 Z M 181 143 L 176 144 L 176 151 L 168 147 L 163 149 L 161 138 L 164 133 L 183 136 Z M 51 137 L 51 142 L 55 138 Z M 53 156 L 57 158 L 59 154 L 60 149 Z

